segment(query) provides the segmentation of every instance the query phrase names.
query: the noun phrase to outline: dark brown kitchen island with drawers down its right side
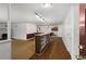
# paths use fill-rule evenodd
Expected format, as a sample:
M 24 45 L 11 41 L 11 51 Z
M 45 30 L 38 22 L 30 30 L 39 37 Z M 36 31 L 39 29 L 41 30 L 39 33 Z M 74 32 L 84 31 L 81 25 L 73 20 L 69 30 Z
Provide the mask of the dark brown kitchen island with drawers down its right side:
M 36 35 L 35 41 L 35 53 L 41 54 L 50 43 L 50 34 Z

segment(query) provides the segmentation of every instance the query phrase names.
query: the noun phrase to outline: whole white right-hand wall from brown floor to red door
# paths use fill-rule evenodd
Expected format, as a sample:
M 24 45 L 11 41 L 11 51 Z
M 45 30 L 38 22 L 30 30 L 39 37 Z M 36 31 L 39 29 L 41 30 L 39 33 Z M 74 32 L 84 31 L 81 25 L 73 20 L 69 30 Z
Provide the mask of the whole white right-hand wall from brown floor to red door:
M 63 23 L 63 41 L 72 59 L 79 54 L 78 4 L 73 4 Z

